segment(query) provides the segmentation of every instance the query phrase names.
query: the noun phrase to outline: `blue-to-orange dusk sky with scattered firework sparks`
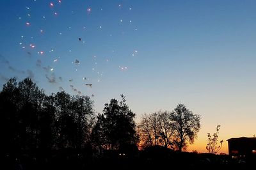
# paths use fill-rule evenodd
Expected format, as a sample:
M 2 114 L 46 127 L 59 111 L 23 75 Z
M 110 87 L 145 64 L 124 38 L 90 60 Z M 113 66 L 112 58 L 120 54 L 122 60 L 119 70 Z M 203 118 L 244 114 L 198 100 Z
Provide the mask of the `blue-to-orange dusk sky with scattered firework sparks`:
M 256 1 L 2 0 L 0 86 L 30 77 L 45 93 L 88 95 L 96 112 L 124 94 L 144 113 L 182 103 L 207 133 L 256 134 Z M 220 153 L 219 152 L 219 153 Z

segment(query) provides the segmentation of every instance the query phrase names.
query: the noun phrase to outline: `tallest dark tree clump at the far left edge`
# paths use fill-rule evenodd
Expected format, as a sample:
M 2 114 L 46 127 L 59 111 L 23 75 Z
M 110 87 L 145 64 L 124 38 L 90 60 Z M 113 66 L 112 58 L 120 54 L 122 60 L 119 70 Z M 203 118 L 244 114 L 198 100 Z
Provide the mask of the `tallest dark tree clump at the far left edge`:
M 42 132 L 40 121 L 44 117 L 44 91 L 38 89 L 29 78 L 20 82 L 10 79 L 4 84 L 0 96 L 6 147 L 10 146 L 14 150 L 39 148 L 39 135 Z

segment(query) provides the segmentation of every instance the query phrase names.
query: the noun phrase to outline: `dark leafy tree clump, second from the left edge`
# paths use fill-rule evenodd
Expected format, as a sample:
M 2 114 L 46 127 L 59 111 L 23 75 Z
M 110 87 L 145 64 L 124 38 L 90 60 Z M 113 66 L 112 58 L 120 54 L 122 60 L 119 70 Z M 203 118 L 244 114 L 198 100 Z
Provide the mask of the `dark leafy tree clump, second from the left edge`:
M 55 108 L 55 139 L 58 148 L 83 148 L 90 141 L 94 123 L 90 97 L 71 97 L 65 91 L 52 94 Z

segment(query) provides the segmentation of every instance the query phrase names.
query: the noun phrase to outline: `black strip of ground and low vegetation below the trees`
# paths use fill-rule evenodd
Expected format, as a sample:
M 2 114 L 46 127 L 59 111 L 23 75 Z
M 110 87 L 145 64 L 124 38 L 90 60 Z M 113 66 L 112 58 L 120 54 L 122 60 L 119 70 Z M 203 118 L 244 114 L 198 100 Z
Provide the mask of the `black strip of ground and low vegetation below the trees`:
M 254 160 L 232 159 L 228 155 L 172 151 L 152 146 L 138 151 L 56 150 L 10 153 L 4 156 L 6 169 L 247 169 Z

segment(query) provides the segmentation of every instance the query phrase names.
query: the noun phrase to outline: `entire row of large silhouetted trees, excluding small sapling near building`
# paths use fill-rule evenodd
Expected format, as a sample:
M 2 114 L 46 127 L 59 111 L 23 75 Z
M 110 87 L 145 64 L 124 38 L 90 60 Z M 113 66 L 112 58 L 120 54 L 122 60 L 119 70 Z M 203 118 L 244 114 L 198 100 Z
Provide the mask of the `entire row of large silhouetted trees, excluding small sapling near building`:
M 200 130 L 200 115 L 183 104 L 172 112 L 144 114 L 136 125 L 136 114 L 124 95 L 121 98 L 111 99 L 102 113 L 96 114 L 88 96 L 65 91 L 46 95 L 29 78 L 20 82 L 10 79 L 0 91 L 1 148 L 9 153 L 161 145 L 182 151 Z

